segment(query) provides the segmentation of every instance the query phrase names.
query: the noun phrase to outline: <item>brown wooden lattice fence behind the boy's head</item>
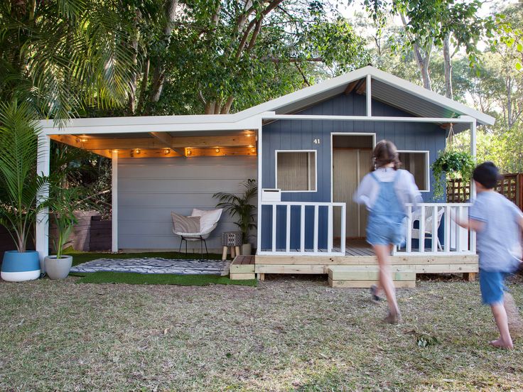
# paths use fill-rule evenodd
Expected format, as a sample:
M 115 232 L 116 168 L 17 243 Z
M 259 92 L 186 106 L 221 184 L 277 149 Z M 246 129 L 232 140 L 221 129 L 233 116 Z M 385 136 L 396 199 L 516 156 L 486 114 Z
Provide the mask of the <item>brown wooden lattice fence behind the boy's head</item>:
M 504 174 L 495 187 L 517 207 L 523 209 L 523 173 Z M 447 182 L 447 202 L 463 203 L 470 200 L 470 184 L 458 178 Z

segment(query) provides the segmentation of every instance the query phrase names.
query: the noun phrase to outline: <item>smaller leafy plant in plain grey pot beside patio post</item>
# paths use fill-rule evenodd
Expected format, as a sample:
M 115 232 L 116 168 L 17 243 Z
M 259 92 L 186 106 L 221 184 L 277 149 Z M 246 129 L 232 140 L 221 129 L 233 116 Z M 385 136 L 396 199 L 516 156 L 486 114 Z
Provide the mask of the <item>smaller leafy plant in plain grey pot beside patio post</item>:
M 55 237 L 52 238 L 56 254 L 45 257 L 45 273 L 51 279 L 63 279 L 69 275 L 72 266 L 72 256 L 63 254 L 63 248 L 70 242 L 69 236 L 77 223 L 75 207 L 82 192 L 77 187 L 60 185 L 53 185 L 50 189 L 46 205 L 49 207 L 50 219 L 56 227 Z

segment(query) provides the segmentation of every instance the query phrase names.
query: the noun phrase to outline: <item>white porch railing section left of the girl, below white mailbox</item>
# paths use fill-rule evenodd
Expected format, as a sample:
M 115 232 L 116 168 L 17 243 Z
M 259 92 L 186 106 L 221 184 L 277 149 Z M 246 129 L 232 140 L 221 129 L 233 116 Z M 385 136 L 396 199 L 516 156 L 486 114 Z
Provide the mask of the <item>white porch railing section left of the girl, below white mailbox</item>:
M 333 222 L 333 209 L 340 208 L 340 236 L 345 238 L 345 203 L 341 202 L 262 202 L 262 215 L 264 214 L 264 206 L 271 207 L 271 220 L 272 220 L 272 232 L 270 238 L 270 246 L 262 246 L 262 249 L 259 249 L 258 254 L 266 255 L 307 255 L 307 256 L 316 256 L 316 255 L 333 255 L 333 256 L 345 256 L 345 241 L 341 241 L 340 246 L 335 247 L 333 245 L 333 232 L 334 232 L 334 222 Z M 279 207 L 279 208 L 278 208 Z M 298 219 L 291 219 L 291 208 L 299 207 L 300 213 L 297 214 Z M 326 227 L 322 226 L 320 228 L 320 209 L 326 209 L 327 212 L 327 224 Z M 306 222 L 306 210 L 313 211 L 313 222 Z M 279 214 L 284 214 L 286 219 L 286 224 L 280 224 L 278 226 L 277 222 Z M 296 214 L 295 214 L 296 215 Z M 262 217 L 262 224 L 266 221 Z M 313 224 L 313 244 L 312 248 L 306 246 L 306 226 L 311 227 Z M 300 230 L 300 241 L 299 247 L 291 248 L 291 226 L 299 227 Z M 320 232 L 322 230 L 327 230 L 327 243 L 326 246 L 320 246 Z M 281 230 L 285 230 L 285 246 L 284 248 L 278 247 L 277 242 L 279 235 L 281 236 Z M 263 233 L 263 228 L 259 228 L 259 231 Z M 280 241 L 281 242 L 281 241 Z

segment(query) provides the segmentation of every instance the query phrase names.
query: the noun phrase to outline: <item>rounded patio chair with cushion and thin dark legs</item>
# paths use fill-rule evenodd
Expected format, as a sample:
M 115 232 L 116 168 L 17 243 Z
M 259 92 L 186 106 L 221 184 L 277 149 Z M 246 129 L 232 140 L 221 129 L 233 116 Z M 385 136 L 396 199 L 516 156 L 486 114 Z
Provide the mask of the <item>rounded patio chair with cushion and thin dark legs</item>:
M 218 221 L 222 216 L 223 209 L 193 209 L 190 217 L 171 212 L 173 218 L 173 233 L 180 236 L 180 247 L 178 253 L 181 252 L 183 241 L 185 241 L 185 253 L 187 253 L 187 241 L 200 241 L 200 251 L 203 256 L 203 244 L 205 244 L 205 253 L 209 256 L 207 249 L 207 238 L 218 225 Z

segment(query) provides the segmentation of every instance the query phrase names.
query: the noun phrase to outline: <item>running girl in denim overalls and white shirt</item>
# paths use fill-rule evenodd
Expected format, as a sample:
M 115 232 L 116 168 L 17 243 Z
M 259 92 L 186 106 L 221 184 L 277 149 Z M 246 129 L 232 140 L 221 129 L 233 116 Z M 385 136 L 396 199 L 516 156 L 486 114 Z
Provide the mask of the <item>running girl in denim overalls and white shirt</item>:
M 394 292 L 389 255 L 394 245 L 405 239 L 405 203 L 421 202 L 414 177 L 406 170 L 398 170 L 397 148 L 391 141 L 379 141 L 372 152 L 374 171 L 365 175 L 358 187 L 354 200 L 365 204 L 369 210 L 367 242 L 374 248 L 379 265 L 379 285 L 389 303 L 389 314 L 385 322 L 397 324 L 401 320 Z M 378 288 L 372 287 L 373 298 L 379 298 Z

